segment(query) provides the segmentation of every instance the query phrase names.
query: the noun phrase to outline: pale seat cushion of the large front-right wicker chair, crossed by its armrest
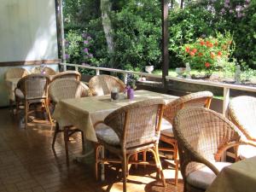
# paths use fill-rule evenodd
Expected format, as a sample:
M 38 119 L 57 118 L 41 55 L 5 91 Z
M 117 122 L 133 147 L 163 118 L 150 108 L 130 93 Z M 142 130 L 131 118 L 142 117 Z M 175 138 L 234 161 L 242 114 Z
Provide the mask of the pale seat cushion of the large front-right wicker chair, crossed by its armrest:
M 228 162 L 214 162 L 213 165 L 216 166 L 218 171 L 221 171 L 225 166 L 230 166 L 231 164 Z M 187 182 L 196 188 L 207 189 L 215 177 L 214 172 L 209 167 L 204 166 L 195 172 L 191 172 L 187 177 Z

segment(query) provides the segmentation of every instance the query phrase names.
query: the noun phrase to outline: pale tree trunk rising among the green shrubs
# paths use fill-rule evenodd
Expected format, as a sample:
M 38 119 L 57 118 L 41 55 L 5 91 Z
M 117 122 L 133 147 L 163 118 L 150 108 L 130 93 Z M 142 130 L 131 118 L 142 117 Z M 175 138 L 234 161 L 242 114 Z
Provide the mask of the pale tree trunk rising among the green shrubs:
M 105 33 L 105 38 L 108 44 L 108 52 L 111 54 L 114 52 L 113 46 L 113 36 L 112 36 L 112 25 L 111 20 L 109 18 L 109 13 L 111 11 L 111 3 L 110 0 L 101 0 L 101 10 L 102 10 L 102 26 Z M 113 63 L 110 63 L 113 65 Z

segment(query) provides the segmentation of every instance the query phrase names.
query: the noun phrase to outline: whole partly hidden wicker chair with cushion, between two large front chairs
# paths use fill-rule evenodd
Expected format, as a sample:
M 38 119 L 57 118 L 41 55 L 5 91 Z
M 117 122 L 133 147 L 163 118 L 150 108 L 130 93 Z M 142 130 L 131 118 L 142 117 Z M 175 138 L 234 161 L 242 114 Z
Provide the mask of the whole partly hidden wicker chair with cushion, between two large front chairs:
M 178 160 L 177 140 L 173 136 L 172 132 L 173 119 L 177 112 L 182 108 L 191 106 L 209 108 L 212 101 L 212 96 L 212 93 L 209 91 L 191 93 L 168 103 L 164 109 L 160 141 L 171 144 L 172 148 L 160 148 L 160 151 L 169 151 L 173 153 L 173 160 L 175 163 L 175 185 L 177 185 Z

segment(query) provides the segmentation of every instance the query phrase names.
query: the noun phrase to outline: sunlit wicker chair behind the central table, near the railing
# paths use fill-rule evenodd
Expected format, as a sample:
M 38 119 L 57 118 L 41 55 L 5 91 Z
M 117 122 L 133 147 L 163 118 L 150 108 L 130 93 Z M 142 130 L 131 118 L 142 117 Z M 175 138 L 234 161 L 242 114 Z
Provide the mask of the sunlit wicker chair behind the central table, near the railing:
M 110 75 L 96 75 L 89 81 L 89 88 L 93 96 L 108 95 L 113 87 L 118 87 L 119 92 L 125 90 L 125 84 L 120 79 Z

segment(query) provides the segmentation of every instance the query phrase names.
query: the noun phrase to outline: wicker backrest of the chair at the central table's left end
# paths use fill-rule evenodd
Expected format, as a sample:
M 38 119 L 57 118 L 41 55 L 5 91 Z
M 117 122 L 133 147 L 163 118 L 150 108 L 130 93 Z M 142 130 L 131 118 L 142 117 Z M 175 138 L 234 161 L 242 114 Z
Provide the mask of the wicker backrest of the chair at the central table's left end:
M 57 103 L 62 99 L 88 96 L 89 88 L 75 79 L 55 79 L 49 84 L 49 96 Z

